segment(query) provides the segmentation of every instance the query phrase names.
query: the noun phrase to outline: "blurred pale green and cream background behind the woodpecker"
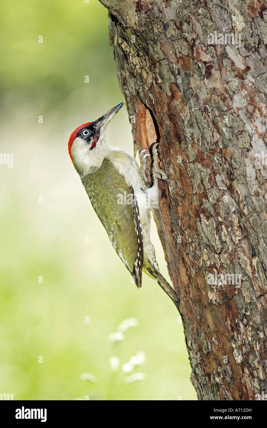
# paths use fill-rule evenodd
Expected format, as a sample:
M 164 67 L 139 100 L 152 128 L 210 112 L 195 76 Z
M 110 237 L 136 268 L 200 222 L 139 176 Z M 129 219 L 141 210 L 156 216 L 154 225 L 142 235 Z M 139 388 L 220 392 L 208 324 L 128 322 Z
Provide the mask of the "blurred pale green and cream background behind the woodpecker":
M 12 153 L 14 166 L 0 165 L 0 393 L 196 399 L 175 306 L 146 275 L 141 290 L 131 283 L 67 152 L 78 125 L 123 101 L 108 11 L 97 0 L 4 0 L 1 9 L 0 152 Z M 132 153 L 126 107 L 109 125 L 107 143 Z M 152 241 L 168 278 L 154 223 Z M 132 317 L 138 326 L 112 345 L 109 333 Z M 144 380 L 126 384 L 121 370 L 111 374 L 111 356 L 121 367 L 138 351 L 147 355 L 135 369 Z M 81 380 L 84 372 L 99 383 Z

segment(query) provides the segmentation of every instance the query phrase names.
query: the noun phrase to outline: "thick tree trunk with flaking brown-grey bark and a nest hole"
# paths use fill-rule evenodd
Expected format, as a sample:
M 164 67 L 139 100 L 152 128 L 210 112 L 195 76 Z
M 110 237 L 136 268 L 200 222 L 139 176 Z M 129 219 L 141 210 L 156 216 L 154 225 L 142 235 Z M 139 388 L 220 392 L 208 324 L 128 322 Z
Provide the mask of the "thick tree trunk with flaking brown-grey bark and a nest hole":
M 180 295 L 198 399 L 262 399 L 267 393 L 266 5 L 263 0 L 101 3 L 110 11 L 110 41 L 135 152 L 160 141 L 161 168 L 172 179 L 159 181 L 155 220 Z

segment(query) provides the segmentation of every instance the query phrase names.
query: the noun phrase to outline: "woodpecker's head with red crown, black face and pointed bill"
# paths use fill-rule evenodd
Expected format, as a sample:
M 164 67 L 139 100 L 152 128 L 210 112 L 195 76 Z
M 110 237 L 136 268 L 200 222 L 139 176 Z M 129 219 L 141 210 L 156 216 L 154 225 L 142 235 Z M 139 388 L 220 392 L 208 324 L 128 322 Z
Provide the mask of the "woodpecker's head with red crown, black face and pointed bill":
M 94 122 L 78 126 L 69 137 L 69 156 L 79 174 L 90 167 L 99 167 L 105 157 L 107 145 L 105 133 L 108 123 L 124 103 L 117 104 Z

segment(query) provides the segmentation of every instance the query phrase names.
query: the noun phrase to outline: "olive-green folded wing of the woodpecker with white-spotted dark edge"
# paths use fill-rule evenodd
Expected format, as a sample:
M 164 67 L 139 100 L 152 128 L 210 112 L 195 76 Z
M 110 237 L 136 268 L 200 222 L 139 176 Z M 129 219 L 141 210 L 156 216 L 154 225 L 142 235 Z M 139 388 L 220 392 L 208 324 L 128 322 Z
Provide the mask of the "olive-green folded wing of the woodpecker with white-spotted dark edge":
M 132 188 L 108 159 L 97 171 L 84 176 L 82 183 L 116 253 L 141 287 L 143 241 Z

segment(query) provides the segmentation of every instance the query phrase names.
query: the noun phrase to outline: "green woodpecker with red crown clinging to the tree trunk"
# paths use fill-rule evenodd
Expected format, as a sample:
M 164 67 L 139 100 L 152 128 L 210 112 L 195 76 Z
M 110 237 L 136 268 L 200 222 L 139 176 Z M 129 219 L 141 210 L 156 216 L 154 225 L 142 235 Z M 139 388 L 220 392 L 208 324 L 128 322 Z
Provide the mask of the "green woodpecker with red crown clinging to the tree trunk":
M 157 167 L 157 144 L 153 145 L 153 186 L 145 188 L 135 158 L 105 142 L 110 120 L 123 106 L 118 104 L 94 122 L 84 123 L 69 138 L 69 155 L 120 256 L 138 288 L 142 270 L 155 279 L 179 306 L 179 297 L 159 272 L 150 241 L 150 212 L 158 208 L 158 178 L 166 179 Z

